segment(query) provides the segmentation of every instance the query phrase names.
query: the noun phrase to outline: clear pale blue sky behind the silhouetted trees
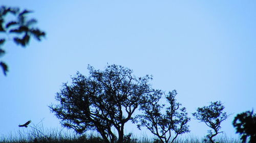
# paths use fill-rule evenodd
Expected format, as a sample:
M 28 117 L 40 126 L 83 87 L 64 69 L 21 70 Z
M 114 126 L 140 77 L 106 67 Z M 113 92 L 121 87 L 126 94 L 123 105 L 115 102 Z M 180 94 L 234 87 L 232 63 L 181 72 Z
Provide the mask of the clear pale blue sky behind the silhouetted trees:
M 129 67 L 137 76 L 152 74 L 152 85 L 177 90 L 189 112 L 220 100 L 228 113 L 222 124 L 236 136 L 237 113 L 256 110 L 255 1 L 34 1 L 1 0 L 1 5 L 33 10 L 30 17 L 47 33 L 24 49 L 4 45 L 9 65 L 0 74 L 0 135 L 18 124 L 44 120 L 59 127 L 48 105 L 62 82 L 87 65 Z M 1 71 L 2 72 L 2 71 Z M 208 128 L 191 119 L 190 134 Z M 127 132 L 140 134 L 136 127 Z

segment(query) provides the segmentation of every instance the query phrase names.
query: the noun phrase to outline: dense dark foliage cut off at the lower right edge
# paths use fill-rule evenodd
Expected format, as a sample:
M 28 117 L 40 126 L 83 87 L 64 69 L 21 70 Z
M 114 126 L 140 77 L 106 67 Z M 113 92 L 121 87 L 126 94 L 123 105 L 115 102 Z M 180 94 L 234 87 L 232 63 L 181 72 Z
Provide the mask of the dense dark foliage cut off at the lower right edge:
M 246 142 L 247 137 L 250 137 L 249 142 L 256 142 L 256 114 L 252 111 L 242 112 L 233 120 L 233 126 L 237 129 L 237 133 L 241 136 L 242 142 Z

